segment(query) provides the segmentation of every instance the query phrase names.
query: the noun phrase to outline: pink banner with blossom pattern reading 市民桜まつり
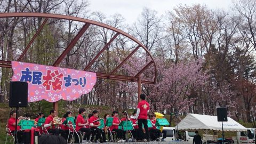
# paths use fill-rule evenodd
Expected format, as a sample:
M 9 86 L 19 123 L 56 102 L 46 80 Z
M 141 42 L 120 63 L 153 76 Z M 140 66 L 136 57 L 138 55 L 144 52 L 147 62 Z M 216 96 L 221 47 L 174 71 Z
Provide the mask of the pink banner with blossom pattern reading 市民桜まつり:
M 96 73 L 12 61 L 12 81 L 28 82 L 28 102 L 75 100 L 89 93 Z

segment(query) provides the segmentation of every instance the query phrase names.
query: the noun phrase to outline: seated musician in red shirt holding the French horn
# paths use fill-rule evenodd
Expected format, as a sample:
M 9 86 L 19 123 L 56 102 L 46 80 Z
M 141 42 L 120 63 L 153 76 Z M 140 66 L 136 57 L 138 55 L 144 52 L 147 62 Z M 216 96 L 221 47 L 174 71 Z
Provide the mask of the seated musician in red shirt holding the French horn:
M 56 114 L 57 114 L 56 110 L 52 109 L 50 111 L 50 115 L 45 119 L 44 127 L 46 127 L 46 130 L 49 133 L 53 133 L 54 135 L 61 134 L 62 137 L 65 137 L 64 131 L 55 127 L 53 123 L 53 118 L 56 116 Z

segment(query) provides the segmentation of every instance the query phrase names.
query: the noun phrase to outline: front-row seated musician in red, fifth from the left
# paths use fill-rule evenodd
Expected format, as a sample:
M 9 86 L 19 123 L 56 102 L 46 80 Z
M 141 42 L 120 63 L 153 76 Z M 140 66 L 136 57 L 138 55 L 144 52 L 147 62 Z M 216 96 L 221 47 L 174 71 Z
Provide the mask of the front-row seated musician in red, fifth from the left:
M 125 131 L 118 129 L 118 125 L 121 122 L 119 121 L 119 118 L 118 118 L 118 111 L 113 111 L 112 117 L 114 119 L 113 119 L 112 126 L 109 127 L 110 131 L 116 132 L 116 137 L 117 139 L 119 139 L 117 140 L 117 142 L 125 142 Z

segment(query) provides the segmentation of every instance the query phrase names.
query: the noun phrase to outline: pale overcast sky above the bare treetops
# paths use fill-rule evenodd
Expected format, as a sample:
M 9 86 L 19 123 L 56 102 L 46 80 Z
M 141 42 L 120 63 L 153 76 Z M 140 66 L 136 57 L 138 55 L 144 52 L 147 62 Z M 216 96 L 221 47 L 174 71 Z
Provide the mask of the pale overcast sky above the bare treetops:
M 91 12 L 100 11 L 106 16 L 120 13 L 130 25 L 137 20 L 143 7 L 156 10 L 158 15 L 164 15 L 178 4 L 206 4 L 210 9 L 228 10 L 232 0 L 89 0 Z

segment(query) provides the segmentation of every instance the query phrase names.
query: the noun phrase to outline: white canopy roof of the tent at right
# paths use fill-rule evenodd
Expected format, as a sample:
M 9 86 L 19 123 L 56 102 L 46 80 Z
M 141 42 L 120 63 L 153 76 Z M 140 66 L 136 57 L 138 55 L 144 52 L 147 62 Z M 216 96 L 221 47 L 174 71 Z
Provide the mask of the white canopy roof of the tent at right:
M 221 122 L 218 122 L 217 116 L 188 114 L 182 121 L 175 126 L 179 130 L 217 130 L 222 131 Z M 246 128 L 237 123 L 234 119 L 228 117 L 228 122 L 223 122 L 224 131 L 246 131 Z

